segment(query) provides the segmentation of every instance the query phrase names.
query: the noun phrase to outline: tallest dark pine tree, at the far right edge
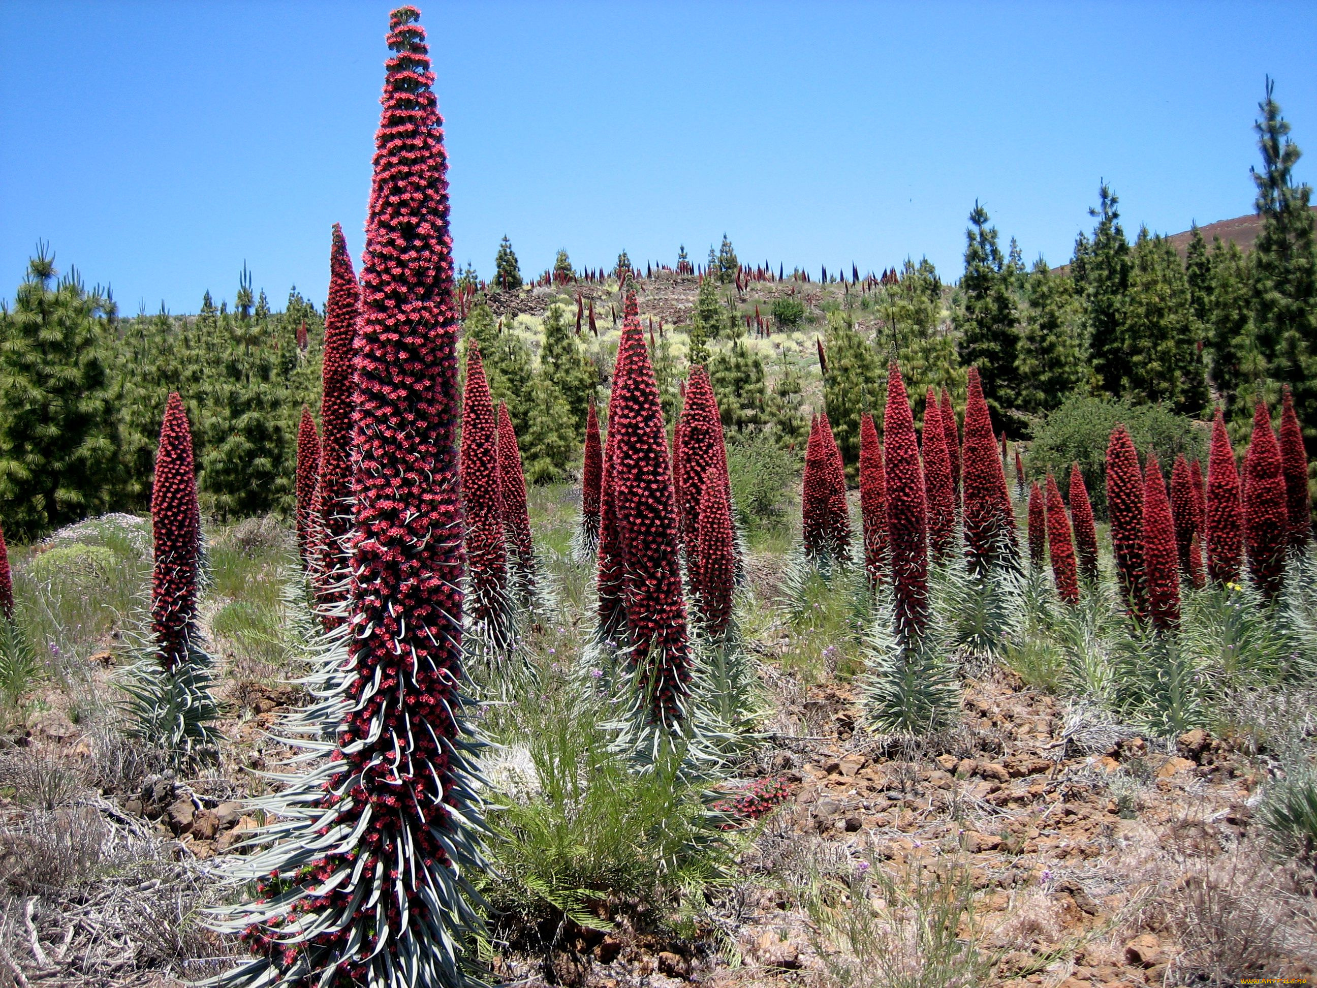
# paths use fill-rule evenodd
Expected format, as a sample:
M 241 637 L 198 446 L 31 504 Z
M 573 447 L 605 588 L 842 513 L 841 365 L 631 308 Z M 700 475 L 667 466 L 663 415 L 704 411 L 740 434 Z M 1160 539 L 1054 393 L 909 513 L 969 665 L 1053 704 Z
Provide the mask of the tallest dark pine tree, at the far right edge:
M 1312 188 L 1295 184 L 1300 150 L 1289 138 L 1289 123 L 1274 99 L 1258 104 L 1255 124 L 1262 150 L 1262 171 L 1252 170 L 1258 186 L 1262 231 L 1252 252 L 1252 321 L 1270 377 L 1289 385 L 1295 410 L 1305 423 L 1304 443 L 1317 453 L 1317 242 L 1309 209 Z

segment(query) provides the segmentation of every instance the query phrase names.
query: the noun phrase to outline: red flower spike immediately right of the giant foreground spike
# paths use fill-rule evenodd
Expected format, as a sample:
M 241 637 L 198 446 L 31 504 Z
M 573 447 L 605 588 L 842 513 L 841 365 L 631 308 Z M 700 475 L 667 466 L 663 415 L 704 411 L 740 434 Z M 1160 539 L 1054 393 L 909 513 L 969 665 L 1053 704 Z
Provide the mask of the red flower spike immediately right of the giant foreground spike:
M 495 631 L 502 630 L 508 591 L 498 447 L 498 422 L 490 386 L 485 379 L 481 348 L 475 340 L 469 340 L 466 390 L 462 395 L 462 512 L 466 516 L 466 578 L 470 594 L 468 611 L 477 624 L 485 623 Z

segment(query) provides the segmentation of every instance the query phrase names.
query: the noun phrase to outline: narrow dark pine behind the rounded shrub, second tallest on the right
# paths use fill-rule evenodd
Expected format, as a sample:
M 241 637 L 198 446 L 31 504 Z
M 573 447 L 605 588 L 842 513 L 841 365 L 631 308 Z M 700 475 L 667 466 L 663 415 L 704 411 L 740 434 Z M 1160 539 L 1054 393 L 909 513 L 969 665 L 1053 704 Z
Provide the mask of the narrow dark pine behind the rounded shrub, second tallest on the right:
M 1097 195 L 1097 208 L 1088 211 L 1097 219 L 1093 238 L 1079 236 L 1072 271 L 1097 385 L 1118 398 L 1130 373 L 1123 335 L 1130 245 L 1121 228 L 1119 198 L 1105 182 Z

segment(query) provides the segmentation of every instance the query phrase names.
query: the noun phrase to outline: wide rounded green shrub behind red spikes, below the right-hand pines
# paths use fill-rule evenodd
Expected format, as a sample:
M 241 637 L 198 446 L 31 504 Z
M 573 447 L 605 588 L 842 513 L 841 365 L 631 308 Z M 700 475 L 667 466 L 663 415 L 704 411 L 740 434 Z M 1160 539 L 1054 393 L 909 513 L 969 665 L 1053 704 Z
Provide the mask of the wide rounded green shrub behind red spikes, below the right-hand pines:
M 1167 462 L 1173 462 L 1176 453 L 1184 453 L 1191 461 L 1206 456 L 1206 429 L 1160 404 L 1134 406 L 1105 398 L 1071 398 L 1034 432 L 1034 443 L 1029 448 L 1030 469 L 1039 473 L 1052 470 L 1060 476 L 1077 462 L 1093 511 L 1105 519 L 1104 454 L 1117 423 L 1125 423 L 1141 456 L 1151 451 Z

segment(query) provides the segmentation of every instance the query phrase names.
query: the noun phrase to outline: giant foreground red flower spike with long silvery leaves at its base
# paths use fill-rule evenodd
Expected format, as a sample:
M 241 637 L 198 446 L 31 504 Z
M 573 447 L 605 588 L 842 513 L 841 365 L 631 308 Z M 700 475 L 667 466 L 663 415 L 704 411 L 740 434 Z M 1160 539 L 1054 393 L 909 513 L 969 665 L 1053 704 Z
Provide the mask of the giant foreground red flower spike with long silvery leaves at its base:
M 462 508 L 448 161 L 419 13 L 390 17 L 356 346 L 353 671 L 337 751 L 302 813 L 242 867 L 263 875 L 259 958 L 228 985 L 464 983 L 486 867 L 462 700 Z M 292 794 L 284 796 L 284 800 Z M 369 905 L 367 905 L 369 904 Z

